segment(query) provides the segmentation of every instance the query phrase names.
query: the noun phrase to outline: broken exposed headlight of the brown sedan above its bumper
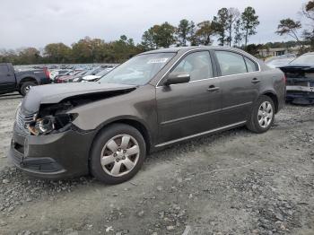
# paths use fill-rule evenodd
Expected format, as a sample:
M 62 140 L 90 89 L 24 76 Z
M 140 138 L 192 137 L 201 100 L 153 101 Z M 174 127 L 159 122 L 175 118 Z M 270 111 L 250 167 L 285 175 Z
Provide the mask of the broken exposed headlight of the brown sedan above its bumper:
M 29 131 L 32 135 L 48 135 L 68 130 L 77 114 L 57 114 L 36 118 L 30 123 Z

